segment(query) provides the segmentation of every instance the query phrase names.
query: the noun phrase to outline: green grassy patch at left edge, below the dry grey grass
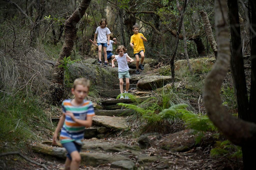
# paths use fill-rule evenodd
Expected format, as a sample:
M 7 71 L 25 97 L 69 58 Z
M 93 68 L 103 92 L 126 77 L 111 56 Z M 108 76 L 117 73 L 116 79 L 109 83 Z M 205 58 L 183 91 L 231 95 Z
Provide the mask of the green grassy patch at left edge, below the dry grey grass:
M 44 103 L 39 98 L 31 94 L 11 96 L 2 92 L 0 97 L 0 145 L 5 145 L 0 147 L 1 152 L 26 149 L 28 140 L 39 140 L 53 130 L 50 116 L 43 111 Z

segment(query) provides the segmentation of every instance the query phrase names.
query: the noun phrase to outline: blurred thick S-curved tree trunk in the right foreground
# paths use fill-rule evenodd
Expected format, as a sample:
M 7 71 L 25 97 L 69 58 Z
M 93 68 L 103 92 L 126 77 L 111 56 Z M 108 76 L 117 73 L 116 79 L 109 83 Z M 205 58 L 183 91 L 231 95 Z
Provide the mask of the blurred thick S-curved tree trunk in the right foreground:
M 215 66 L 205 79 L 204 103 L 210 120 L 234 144 L 242 147 L 254 147 L 256 142 L 256 124 L 236 119 L 229 114 L 220 99 L 220 88 L 230 64 L 230 43 L 228 32 L 227 2 L 215 1 L 216 38 L 218 57 Z M 250 113 L 249 113 L 250 114 Z M 255 154 L 250 152 L 247 158 Z M 255 160 L 254 160 L 255 161 Z M 255 169 L 254 161 L 244 162 L 245 169 Z M 249 166 L 248 166 L 249 164 Z

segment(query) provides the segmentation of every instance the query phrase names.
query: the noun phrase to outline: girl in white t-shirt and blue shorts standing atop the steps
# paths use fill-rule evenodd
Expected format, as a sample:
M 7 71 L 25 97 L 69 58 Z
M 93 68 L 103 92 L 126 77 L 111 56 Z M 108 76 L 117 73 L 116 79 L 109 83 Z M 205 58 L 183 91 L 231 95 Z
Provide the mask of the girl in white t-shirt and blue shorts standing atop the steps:
M 107 21 L 105 18 L 100 20 L 100 26 L 97 27 L 95 34 L 94 34 L 94 40 L 93 44 L 96 44 L 96 37 L 98 34 L 98 39 L 97 39 L 97 44 L 98 44 L 98 49 L 99 49 L 99 61 L 97 64 L 101 65 L 101 50 L 103 47 L 103 53 L 104 53 L 104 66 L 108 66 L 108 60 L 107 60 L 107 46 L 109 45 L 109 39 L 110 39 L 110 30 L 107 28 Z

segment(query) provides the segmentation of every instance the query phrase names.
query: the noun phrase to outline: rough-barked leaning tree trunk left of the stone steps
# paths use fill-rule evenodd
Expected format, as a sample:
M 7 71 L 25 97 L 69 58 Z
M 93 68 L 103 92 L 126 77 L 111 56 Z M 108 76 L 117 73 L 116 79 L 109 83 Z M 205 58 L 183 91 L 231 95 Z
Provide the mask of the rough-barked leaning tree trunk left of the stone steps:
M 61 48 L 59 58 L 55 64 L 50 86 L 50 95 L 53 103 L 59 103 L 64 92 L 64 70 L 62 67 L 59 68 L 58 66 L 61 64 L 61 60 L 63 60 L 64 57 L 69 57 L 71 55 L 71 51 L 77 35 L 76 24 L 83 17 L 84 12 L 88 8 L 90 2 L 91 0 L 82 0 L 78 8 L 65 22 L 65 43 Z

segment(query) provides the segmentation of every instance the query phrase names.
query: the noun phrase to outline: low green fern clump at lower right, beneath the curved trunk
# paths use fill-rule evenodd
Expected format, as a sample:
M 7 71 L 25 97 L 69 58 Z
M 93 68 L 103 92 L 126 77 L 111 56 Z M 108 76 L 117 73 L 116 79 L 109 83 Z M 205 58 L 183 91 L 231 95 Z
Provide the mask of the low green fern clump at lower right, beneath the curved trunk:
M 216 141 L 215 148 L 211 150 L 211 156 L 227 156 L 228 158 L 242 158 L 242 149 L 233 145 L 229 140 Z

